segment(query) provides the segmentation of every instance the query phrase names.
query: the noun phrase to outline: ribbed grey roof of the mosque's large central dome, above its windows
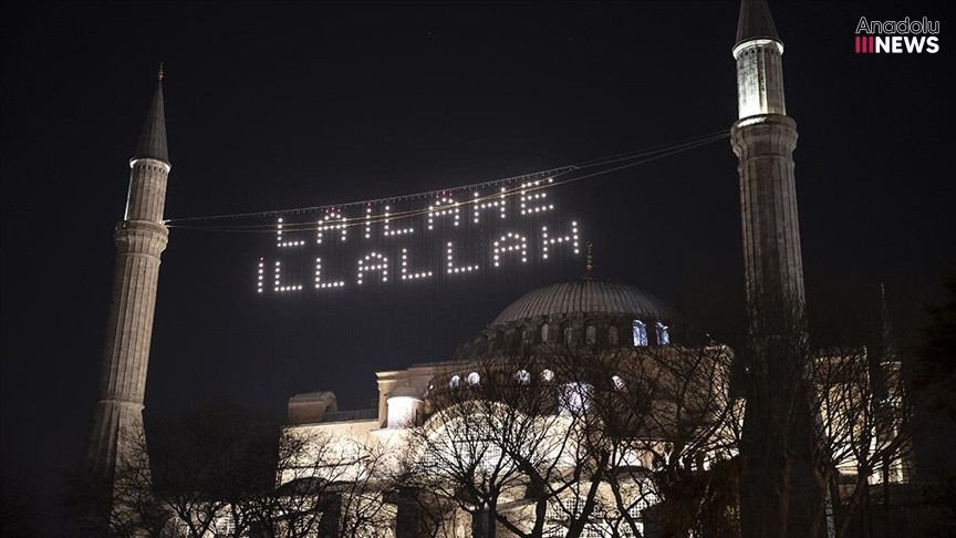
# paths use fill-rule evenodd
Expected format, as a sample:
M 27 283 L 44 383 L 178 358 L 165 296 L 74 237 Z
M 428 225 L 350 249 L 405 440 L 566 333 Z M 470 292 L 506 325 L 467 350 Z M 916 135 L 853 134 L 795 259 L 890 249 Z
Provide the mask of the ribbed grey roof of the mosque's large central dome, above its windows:
M 578 280 L 529 291 L 501 311 L 491 327 L 538 317 L 589 313 L 650 320 L 674 319 L 673 310 L 664 301 L 633 286 Z

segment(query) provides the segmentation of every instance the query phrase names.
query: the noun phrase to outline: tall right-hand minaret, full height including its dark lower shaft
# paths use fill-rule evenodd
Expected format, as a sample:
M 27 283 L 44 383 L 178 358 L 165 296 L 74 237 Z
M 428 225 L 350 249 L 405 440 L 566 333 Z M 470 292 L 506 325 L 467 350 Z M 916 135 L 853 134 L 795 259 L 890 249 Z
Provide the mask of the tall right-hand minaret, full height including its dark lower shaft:
M 749 318 L 740 455 L 744 537 L 809 536 L 820 496 L 793 149 L 797 123 L 783 99 L 783 43 L 763 0 L 742 0 L 734 59 L 738 120 L 730 128 L 740 174 Z

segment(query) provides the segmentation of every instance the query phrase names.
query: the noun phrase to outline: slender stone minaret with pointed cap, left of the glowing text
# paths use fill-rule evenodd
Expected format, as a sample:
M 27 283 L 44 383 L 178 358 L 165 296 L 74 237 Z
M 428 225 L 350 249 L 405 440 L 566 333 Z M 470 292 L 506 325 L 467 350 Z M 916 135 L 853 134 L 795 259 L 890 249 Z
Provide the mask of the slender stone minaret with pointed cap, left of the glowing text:
M 85 470 L 112 480 L 129 443 L 143 435 L 143 395 L 156 309 L 159 255 L 169 231 L 163 225 L 169 153 L 163 112 L 163 66 L 143 132 L 129 159 L 126 215 L 116 226 L 113 303 Z

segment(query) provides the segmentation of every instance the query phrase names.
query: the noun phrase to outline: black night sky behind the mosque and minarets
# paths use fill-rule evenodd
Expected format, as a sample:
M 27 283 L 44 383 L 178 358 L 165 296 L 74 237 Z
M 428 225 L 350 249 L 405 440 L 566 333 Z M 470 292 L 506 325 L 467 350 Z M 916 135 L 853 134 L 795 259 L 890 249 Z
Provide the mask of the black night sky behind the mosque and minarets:
M 771 2 L 811 309 L 881 280 L 903 319 L 939 299 L 956 251 L 944 3 Z M 938 53 L 854 54 L 860 17 L 924 15 L 942 21 Z M 450 188 L 728 128 L 736 21 L 736 2 L 716 1 L 4 3 L 4 475 L 43 495 L 82 453 L 113 227 L 160 61 L 176 218 Z M 685 313 L 739 309 L 729 142 L 554 196 L 594 242 L 600 277 Z M 229 399 L 281 416 L 314 390 L 366 406 L 376 370 L 447 359 L 522 292 L 583 266 L 257 297 L 272 241 L 172 230 L 147 414 Z

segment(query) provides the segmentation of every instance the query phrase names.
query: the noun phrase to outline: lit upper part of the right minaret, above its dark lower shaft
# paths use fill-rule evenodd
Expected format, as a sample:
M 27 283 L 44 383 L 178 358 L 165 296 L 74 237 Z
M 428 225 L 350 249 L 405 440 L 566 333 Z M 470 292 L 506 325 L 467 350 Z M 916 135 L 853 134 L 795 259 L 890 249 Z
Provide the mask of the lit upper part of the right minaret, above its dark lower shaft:
M 775 314 L 802 315 L 804 306 L 793 175 L 797 123 L 787 115 L 782 54 L 767 2 L 744 0 L 734 45 L 738 120 L 730 139 L 739 159 L 747 303 L 755 334 L 773 334 L 779 322 L 798 321 Z

